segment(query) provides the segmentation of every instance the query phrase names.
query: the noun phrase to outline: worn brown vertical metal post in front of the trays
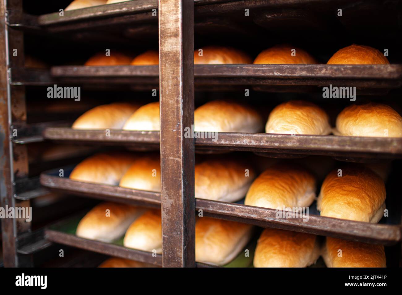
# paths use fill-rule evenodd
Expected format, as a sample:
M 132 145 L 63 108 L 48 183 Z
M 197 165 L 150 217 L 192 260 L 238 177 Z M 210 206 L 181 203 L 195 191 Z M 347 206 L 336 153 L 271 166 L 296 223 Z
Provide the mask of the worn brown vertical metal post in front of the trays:
M 159 0 L 164 267 L 195 267 L 193 0 Z

